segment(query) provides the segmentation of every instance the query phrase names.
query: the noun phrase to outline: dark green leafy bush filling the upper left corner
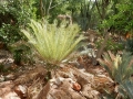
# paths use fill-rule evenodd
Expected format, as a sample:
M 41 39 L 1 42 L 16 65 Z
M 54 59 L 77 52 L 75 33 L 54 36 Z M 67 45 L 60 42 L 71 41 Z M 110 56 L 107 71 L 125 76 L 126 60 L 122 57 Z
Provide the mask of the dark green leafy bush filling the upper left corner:
M 1 0 L 0 1 L 0 40 L 14 43 L 23 36 L 20 28 L 25 26 L 29 19 L 35 18 L 33 0 Z

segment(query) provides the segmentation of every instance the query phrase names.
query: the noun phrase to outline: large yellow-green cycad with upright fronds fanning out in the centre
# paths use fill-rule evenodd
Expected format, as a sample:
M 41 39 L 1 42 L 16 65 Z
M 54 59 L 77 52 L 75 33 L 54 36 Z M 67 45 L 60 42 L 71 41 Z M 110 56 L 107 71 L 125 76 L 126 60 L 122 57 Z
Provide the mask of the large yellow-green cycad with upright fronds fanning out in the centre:
M 31 20 L 29 28 L 21 31 L 40 56 L 50 64 L 61 63 L 84 38 L 82 35 L 78 37 L 80 30 L 76 24 L 69 26 L 61 24 L 57 28 L 57 23 L 49 24 L 47 21 Z

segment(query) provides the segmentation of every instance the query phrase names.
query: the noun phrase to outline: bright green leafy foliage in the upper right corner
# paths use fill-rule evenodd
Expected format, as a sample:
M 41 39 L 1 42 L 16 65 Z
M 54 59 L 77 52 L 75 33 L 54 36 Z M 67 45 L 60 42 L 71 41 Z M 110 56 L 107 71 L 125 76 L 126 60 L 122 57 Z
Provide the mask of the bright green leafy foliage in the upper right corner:
M 110 32 L 125 34 L 133 29 L 133 1 L 115 0 L 112 4 L 113 14 L 102 21 L 101 28 L 110 28 Z

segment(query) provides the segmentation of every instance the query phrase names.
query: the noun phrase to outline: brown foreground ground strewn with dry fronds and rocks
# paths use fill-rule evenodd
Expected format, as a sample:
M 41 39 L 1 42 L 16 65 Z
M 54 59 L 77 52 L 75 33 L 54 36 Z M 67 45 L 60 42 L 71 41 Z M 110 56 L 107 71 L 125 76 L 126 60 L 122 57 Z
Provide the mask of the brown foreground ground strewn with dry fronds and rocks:
M 51 84 L 48 81 L 50 76 L 42 64 L 34 66 L 13 66 L 12 64 L 11 68 L 13 67 L 16 72 L 1 73 L 0 98 L 99 99 L 104 95 L 105 89 L 110 92 L 114 90 L 114 84 L 102 66 L 92 66 L 90 58 L 85 56 L 79 57 L 78 63 L 80 65 L 63 64 L 64 67 L 61 67 L 57 72 L 58 76 L 53 77 L 52 85 L 53 86 L 50 88 Z M 60 85 L 55 84 L 59 79 Z M 48 98 L 50 95 L 52 98 Z

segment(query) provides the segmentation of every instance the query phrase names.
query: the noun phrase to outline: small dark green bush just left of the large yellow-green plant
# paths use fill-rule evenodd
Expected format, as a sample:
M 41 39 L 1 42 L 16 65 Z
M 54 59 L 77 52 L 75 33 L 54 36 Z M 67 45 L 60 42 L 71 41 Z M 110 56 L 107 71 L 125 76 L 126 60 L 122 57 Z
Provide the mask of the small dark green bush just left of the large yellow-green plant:
M 10 44 L 8 48 L 10 48 L 10 52 L 13 54 L 14 64 L 23 65 L 34 63 L 34 52 L 25 41 L 19 41 Z

